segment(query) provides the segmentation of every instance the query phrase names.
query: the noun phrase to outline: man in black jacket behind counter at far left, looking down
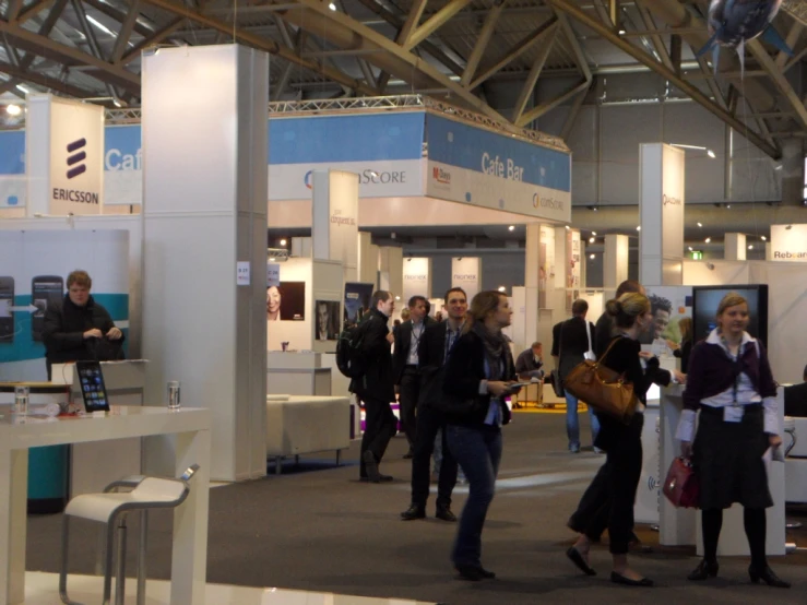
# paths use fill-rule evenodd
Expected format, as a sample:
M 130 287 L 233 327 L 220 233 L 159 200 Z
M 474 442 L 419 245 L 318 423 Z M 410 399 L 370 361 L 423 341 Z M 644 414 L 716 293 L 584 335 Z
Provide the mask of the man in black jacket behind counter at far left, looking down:
M 73 271 L 68 275 L 64 299 L 45 311 L 43 341 L 48 380 L 52 364 L 122 358 L 123 333 L 90 295 L 92 286 L 86 271 Z

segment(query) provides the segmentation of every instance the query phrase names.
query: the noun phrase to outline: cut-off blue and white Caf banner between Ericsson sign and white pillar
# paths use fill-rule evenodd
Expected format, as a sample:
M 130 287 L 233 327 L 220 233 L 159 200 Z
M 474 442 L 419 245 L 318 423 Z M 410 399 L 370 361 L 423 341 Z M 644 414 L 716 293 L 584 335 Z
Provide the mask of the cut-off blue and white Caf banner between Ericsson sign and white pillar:
M 143 203 L 143 151 L 140 124 L 104 129 L 104 204 Z

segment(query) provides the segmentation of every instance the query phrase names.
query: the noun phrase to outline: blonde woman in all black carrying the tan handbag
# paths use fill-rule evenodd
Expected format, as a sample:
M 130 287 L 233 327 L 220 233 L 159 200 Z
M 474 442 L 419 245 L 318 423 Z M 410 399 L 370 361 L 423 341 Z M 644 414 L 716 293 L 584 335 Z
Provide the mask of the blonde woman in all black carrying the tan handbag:
M 633 502 L 642 471 L 642 426 L 646 392 L 653 382 L 668 384 L 669 372 L 658 368 L 658 359 L 641 352 L 639 336 L 650 328 L 653 316 L 650 300 L 643 294 L 624 294 L 618 300 L 609 300 L 606 310 L 614 317 L 618 335 L 614 336 L 601 361 L 625 376 L 633 384 L 637 399 L 636 413 L 629 425 L 597 414 L 600 434 L 595 446 L 605 450 L 607 458 L 603 468 L 586 489 L 569 526 L 580 533 L 567 556 L 585 573 L 595 572 L 589 565 L 592 535 L 602 527 L 597 519 L 607 507 L 610 554 L 614 559 L 610 581 L 631 586 L 652 586 L 653 581 L 641 577 L 628 566 L 628 543 L 633 530 Z M 646 359 L 643 370 L 640 357 Z M 680 376 L 678 372 L 677 376 Z

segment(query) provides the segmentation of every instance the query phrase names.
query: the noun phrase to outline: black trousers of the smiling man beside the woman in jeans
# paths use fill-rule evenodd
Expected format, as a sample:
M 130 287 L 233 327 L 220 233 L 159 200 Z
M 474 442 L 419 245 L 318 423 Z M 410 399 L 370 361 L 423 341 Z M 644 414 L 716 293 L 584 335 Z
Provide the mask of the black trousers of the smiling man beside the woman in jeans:
M 456 484 L 456 460 L 446 444 L 446 420 L 442 414 L 430 405 L 423 405 L 417 414 L 417 437 L 415 452 L 412 458 L 412 503 L 426 508 L 429 498 L 431 474 L 431 454 L 435 451 L 435 439 L 442 431 L 442 462 L 440 463 L 440 481 L 437 484 L 437 508 L 451 506 L 451 491 Z

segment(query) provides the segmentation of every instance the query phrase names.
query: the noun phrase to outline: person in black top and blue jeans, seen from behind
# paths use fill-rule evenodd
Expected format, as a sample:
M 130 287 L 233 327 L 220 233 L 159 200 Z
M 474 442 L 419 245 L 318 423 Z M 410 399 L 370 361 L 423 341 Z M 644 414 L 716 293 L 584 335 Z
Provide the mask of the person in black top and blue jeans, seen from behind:
M 572 318 L 560 325 L 560 337 L 558 345 L 560 379 L 566 377 L 575 366 L 583 363 L 585 354 L 594 347 L 594 324 L 586 321 L 589 302 L 579 298 L 571 306 Z M 591 344 L 590 344 L 591 343 Z M 589 406 L 591 419 L 592 442 L 600 431 L 600 422 Z M 580 452 L 580 419 L 578 418 L 578 398 L 566 391 L 566 434 L 569 438 L 569 451 Z

